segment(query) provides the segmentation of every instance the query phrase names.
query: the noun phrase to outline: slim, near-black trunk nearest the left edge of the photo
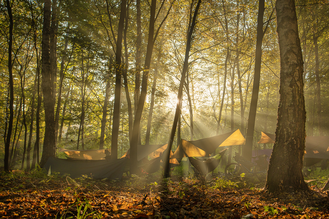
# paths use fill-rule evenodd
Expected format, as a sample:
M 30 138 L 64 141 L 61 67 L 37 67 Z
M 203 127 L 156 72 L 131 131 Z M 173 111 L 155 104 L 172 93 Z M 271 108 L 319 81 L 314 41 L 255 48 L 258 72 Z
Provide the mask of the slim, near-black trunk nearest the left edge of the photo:
M 8 11 L 9 17 L 9 40 L 8 40 L 8 72 L 9 72 L 9 92 L 10 92 L 10 101 L 9 101 L 9 121 L 7 119 L 7 113 L 4 120 L 8 123 L 8 132 L 6 137 L 5 144 L 5 157 L 4 157 L 4 170 L 9 172 L 9 149 L 10 141 L 12 138 L 12 129 L 13 129 L 13 120 L 14 120 L 14 84 L 13 84 L 13 66 L 12 66 L 12 46 L 13 46 L 13 14 L 12 6 L 9 0 L 6 0 L 6 8 Z M 8 102 L 8 99 L 7 99 Z M 8 105 L 7 105 L 8 106 Z

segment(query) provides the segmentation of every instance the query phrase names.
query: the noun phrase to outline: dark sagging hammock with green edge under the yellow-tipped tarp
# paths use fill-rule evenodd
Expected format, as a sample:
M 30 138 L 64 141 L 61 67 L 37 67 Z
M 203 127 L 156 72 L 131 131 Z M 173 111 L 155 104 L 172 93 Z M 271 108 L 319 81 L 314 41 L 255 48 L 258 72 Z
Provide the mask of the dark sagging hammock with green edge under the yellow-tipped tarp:
M 191 165 L 201 174 L 201 176 L 204 176 L 216 169 L 226 150 L 227 148 L 220 151 L 214 157 L 206 159 L 205 161 L 201 161 L 200 159 L 194 157 L 189 157 L 189 160 Z

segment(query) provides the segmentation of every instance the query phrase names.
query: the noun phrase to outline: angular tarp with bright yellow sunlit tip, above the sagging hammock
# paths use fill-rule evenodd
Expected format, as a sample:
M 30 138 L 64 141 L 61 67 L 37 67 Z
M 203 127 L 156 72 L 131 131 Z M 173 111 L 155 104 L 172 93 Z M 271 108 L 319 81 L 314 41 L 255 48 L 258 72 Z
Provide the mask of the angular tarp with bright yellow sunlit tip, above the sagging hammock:
M 171 156 L 171 159 L 185 157 L 209 157 L 219 146 L 242 145 L 244 142 L 245 138 L 239 129 L 233 132 L 199 140 L 187 141 L 182 139 L 176 151 Z

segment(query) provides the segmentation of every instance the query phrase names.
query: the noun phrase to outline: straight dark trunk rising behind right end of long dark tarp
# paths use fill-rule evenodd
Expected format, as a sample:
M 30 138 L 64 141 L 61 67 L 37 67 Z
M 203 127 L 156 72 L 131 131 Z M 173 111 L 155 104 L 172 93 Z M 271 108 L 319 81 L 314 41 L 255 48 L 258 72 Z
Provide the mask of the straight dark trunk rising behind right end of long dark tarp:
M 122 53 L 122 38 L 124 19 L 126 13 L 126 0 L 121 0 L 120 17 L 118 24 L 118 37 L 116 40 L 115 53 L 115 89 L 114 89 L 114 107 L 113 107 L 113 124 L 112 124 L 112 139 L 111 139 L 111 159 L 118 158 L 118 136 L 120 126 L 120 95 L 121 95 L 121 53 Z

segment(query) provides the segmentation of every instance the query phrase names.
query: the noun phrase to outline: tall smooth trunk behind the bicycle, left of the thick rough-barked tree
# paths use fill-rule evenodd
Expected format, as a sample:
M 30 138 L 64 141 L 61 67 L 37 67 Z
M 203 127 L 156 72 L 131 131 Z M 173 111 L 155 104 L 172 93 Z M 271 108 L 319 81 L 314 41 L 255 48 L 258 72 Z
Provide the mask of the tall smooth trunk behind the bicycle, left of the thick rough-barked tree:
M 252 143 L 254 138 L 255 120 L 257 112 L 257 102 L 259 93 L 259 82 L 261 78 L 261 64 L 262 64 L 262 43 L 263 43 L 263 17 L 265 11 L 265 0 L 259 1 L 258 17 L 257 17 L 257 38 L 256 38 L 256 52 L 255 52 L 255 73 L 254 82 L 252 86 L 252 95 L 250 102 L 250 110 L 248 116 L 248 126 L 246 133 L 245 146 L 242 149 L 243 157 L 251 161 Z

